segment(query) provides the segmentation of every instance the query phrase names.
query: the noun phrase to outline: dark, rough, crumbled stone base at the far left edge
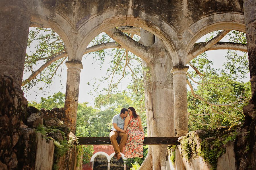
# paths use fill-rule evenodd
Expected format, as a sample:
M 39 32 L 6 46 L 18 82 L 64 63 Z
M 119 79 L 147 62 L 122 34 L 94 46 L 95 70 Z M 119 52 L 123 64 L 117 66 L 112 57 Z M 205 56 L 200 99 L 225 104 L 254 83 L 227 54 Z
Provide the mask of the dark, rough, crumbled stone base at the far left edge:
M 17 142 L 22 136 L 22 119 L 25 117 L 27 100 L 17 93 L 11 77 L 0 75 L 0 167 L 13 169 L 18 165 L 18 157 L 23 148 L 17 150 Z

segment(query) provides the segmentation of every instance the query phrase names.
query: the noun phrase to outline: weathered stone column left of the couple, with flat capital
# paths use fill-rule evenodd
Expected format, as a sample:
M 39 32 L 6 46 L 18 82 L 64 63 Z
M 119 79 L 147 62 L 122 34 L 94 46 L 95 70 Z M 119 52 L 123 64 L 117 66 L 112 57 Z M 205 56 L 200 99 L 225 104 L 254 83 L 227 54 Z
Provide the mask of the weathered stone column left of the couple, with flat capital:
M 80 72 L 83 69 L 80 61 L 66 61 L 67 85 L 65 96 L 65 117 L 64 124 L 67 125 L 73 134 L 76 133 L 77 107 L 80 83 Z

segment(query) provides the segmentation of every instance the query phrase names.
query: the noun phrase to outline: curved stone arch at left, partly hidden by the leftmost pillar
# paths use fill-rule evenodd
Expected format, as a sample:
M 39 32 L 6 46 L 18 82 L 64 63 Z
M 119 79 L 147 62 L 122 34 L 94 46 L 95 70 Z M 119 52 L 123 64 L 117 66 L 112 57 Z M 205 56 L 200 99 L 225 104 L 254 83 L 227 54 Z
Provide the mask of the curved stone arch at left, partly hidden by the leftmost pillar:
M 74 30 L 71 22 L 58 12 L 49 9 L 42 4 L 38 3 L 36 5 L 38 6 L 33 6 L 30 22 L 42 24 L 43 27 L 51 28 L 56 32 L 63 40 L 63 43 L 67 48 L 67 52 L 69 56 L 71 56 L 73 49 L 68 35 L 69 30 Z

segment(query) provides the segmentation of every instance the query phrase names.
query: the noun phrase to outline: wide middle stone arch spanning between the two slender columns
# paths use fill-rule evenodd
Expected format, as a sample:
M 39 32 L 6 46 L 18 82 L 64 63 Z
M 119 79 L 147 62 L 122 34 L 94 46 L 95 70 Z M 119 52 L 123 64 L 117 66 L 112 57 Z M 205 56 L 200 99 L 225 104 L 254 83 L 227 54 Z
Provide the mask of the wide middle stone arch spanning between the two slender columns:
M 133 13 L 139 14 L 139 16 L 134 16 Z M 91 28 L 88 28 L 88 25 L 90 25 Z M 81 24 L 79 28 L 79 32 L 84 32 L 85 34 L 78 47 L 78 53 L 82 54 L 82 51 L 86 49 L 90 41 L 98 34 L 104 32 L 104 30 L 126 25 L 141 27 L 154 33 L 154 35 L 158 36 L 166 45 L 171 54 L 172 61 L 179 62 L 172 42 L 172 39 L 177 35 L 174 28 L 159 16 L 137 11 L 136 9 L 133 9 L 132 12 L 129 12 L 128 10 L 128 12 L 124 14 L 119 14 L 118 10 L 116 10 L 116 12 L 104 11 L 104 13 L 97 14 L 96 16 L 92 16 L 88 20 L 83 21 L 83 24 Z M 82 56 L 76 58 L 76 60 L 81 59 Z

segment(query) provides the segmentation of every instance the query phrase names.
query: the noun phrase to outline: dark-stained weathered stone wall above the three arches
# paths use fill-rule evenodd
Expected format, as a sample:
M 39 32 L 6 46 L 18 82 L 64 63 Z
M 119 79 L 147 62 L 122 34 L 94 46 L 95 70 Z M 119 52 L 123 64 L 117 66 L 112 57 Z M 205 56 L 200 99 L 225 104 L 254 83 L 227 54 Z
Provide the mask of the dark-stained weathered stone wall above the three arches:
M 166 0 L 79 0 L 79 1 L 42 1 L 42 4 L 69 18 L 71 22 L 79 28 L 84 21 L 93 17 L 95 14 L 101 14 L 106 11 L 117 12 L 126 15 L 132 9 L 131 15 L 139 17 L 142 12 L 160 16 L 167 23 L 171 24 L 181 32 L 185 27 L 191 25 L 194 21 L 203 16 L 218 12 L 237 12 L 243 14 L 242 0 L 224 0 L 224 1 L 166 1 Z M 200 5 L 199 5 L 200 3 Z M 36 4 L 36 3 L 35 3 Z M 186 17 L 184 17 L 184 15 Z M 54 15 L 51 15 L 55 17 Z M 184 24 L 186 23 L 186 24 Z

